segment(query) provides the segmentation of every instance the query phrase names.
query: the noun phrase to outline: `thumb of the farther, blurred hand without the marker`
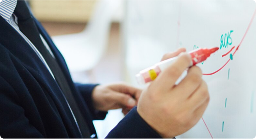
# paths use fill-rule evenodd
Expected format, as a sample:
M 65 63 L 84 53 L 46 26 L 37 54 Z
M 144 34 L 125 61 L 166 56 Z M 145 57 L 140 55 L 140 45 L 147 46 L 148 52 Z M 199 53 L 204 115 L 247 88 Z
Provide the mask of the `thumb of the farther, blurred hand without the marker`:
M 113 97 L 121 106 L 125 106 L 129 109 L 135 107 L 137 104 L 137 101 L 128 94 L 117 92 Z

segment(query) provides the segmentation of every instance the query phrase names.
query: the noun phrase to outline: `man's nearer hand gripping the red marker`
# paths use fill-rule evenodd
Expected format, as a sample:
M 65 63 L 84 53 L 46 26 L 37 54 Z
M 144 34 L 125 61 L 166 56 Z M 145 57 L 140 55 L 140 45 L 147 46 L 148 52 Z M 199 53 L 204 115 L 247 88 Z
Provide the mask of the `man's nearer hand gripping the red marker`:
M 184 49 L 167 54 L 162 60 L 181 52 Z M 189 54 L 180 55 L 141 94 L 138 113 L 164 138 L 174 138 L 192 128 L 209 103 L 207 84 L 202 80 L 199 67 L 190 68 L 183 81 L 175 84 L 190 62 Z

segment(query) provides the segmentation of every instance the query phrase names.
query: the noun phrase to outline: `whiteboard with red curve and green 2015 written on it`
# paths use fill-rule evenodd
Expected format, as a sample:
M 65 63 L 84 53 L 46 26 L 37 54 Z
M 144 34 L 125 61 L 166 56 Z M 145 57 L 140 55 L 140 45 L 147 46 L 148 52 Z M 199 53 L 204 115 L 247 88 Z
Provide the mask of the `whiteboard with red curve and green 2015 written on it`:
M 211 99 L 203 118 L 213 138 L 255 138 L 256 19 L 247 33 L 246 30 L 256 3 L 253 0 L 127 0 L 127 3 L 126 79 L 137 86 L 135 74 L 160 61 L 164 53 L 179 47 L 188 51 L 220 47 L 221 36 L 224 38 L 231 32 L 230 45 L 199 64 L 203 73 L 217 71 L 241 43 L 233 60 L 224 68 L 203 76 Z M 178 138 L 211 138 L 210 133 L 200 120 Z

